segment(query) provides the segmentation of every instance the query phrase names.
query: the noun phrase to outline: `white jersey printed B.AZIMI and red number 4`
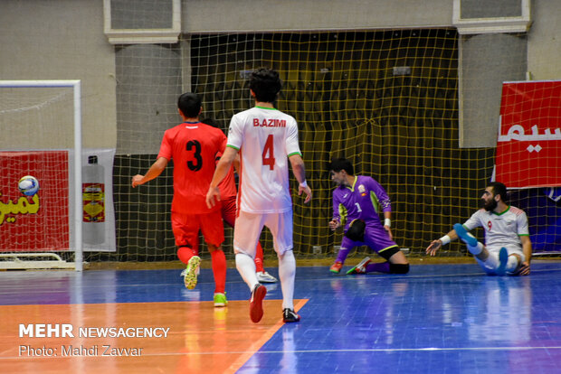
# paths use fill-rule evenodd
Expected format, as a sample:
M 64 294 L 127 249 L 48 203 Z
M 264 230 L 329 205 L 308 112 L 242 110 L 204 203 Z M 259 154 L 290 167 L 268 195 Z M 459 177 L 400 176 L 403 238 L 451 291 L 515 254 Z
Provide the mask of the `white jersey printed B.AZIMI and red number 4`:
M 240 151 L 240 210 L 275 213 L 292 209 L 288 157 L 300 154 L 293 117 L 262 107 L 238 113 L 230 121 L 227 146 Z

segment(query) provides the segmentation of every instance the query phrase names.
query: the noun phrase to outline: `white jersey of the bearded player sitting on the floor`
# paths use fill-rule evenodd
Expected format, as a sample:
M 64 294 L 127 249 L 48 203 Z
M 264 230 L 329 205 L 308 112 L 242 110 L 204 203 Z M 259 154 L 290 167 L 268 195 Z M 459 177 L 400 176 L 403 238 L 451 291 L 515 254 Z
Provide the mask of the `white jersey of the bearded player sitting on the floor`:
M 478 210 L 463 226 L 468 230 L 479 226 L 485 229 L 485 246 L 490 251 L 505 247 L 522 253 L 522 241 L 519 237 L 529 235 L 526 213 L 513 206 L 509 206 L 509 209 L 500 214 L 484 209 Z

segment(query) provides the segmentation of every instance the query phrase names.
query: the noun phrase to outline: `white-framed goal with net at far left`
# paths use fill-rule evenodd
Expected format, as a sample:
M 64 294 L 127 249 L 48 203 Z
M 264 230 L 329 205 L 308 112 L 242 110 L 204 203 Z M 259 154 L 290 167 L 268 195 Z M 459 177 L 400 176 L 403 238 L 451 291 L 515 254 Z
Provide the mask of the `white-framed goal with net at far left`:
M 80 126 L 79 81 L 0 81 L 0 268 L 81 270 Z M 24 175 L 39 181 L 33 196 Z

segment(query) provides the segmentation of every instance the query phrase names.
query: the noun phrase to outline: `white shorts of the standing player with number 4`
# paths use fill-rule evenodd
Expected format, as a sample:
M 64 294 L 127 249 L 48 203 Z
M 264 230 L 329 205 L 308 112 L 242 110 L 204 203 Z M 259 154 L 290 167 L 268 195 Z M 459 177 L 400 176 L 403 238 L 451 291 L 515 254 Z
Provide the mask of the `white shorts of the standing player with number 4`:
M 292 210 L 281 213 L 240 211 L 233 227 L 234 253 L 244 253 L 255 258 L 255 248 L 263 226 L 271 230 L 273 247 L 279 255 L 292 249 Z

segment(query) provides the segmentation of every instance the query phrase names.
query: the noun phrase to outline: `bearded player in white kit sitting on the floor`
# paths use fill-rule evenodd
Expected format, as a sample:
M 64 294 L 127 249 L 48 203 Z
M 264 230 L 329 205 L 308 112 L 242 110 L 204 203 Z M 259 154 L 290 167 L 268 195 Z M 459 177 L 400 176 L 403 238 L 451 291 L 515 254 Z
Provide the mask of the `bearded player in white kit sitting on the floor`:
M 426 253 L 434 256 L 443 245 L 461 238 L 487 274 L 527 276 L 532 257 L 528 217 L 523 210 L 507 205 L 503 200 L 506 194 L 503 183 L 491 182 L 481 196 L 483 209 L 473 213 L 463 225 L 456 223 L 448 234 L 433 240 Z M 477 227 L 485 230 L 485 246 L 468 232 Z

